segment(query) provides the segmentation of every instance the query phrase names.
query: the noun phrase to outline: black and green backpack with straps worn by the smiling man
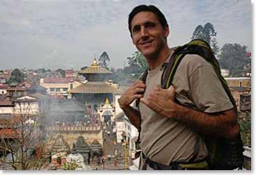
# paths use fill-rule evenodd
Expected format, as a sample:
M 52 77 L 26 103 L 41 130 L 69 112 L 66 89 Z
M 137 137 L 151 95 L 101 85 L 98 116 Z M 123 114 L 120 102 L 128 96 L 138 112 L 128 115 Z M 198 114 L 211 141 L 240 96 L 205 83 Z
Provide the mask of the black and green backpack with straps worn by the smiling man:
M 232 97 L 232 94 L 228 88 L 227 82 L 220 74 L 220 66 L 218 64 L 218 60 L 215 58 L 213 51 L 209 44 L 204 40 L 192 40 L 188 44 L 185 44 L 181 47 L 176 47 L 174 49 L 174 53 L 170 58 L 169 63 L 165 67 L 165 72 L 163 73 L 161 79 L 161 87 L 167 89 L 172 85 L 172 79 L 174 78 L 174 74 L 176 69 L 181 63 L 181 60 L 186 56 L 186 54 L 197 54 L 204 58 L 207 62 L 211 63 L 213 66 L 220 82 L 225 89 L 230 101 L 234 106 L 234 110 L 237 114 L 236 102 Z M 142 74 L 140 80 L 146 82 L 147 70 Z M 139 107 L 140 101 L 136 101 L 136 106 Z M 141 119 L 140 119 L 141 120 Z M 141 122 L 141 121 L 140 121 Z M 204 138 L 204 142 L 206 143 L 206 147 L 209 151 L 209 168 L 210 169 L 220 169 L 220 170 L 230 170 L 230 169 L 242 169 L 243 167 L 243 142 L 241 140 L 241 135 L 237 135 L 235 140 L 228 140 L 225 138 L 213 138 L 211 135 L 201 135 Z M 140 130 L 138 141 L 140 142 Z M 198 150 L 197 145 L 195 147 L 195 154 L 197 154 Z M 196 155 L 195 155 L 196 156 Z

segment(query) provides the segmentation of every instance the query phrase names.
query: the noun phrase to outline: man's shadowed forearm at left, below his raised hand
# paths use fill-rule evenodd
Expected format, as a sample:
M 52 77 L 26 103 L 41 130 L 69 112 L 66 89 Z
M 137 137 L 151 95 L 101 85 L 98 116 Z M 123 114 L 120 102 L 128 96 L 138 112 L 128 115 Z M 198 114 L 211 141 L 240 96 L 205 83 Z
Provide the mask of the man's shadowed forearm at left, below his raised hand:
M 135 110 L 130 106 L 126 106 L 122 108 L 123 112 L 126 114 L 130 122 L 137 128 L 140 128 L 140 112 Z

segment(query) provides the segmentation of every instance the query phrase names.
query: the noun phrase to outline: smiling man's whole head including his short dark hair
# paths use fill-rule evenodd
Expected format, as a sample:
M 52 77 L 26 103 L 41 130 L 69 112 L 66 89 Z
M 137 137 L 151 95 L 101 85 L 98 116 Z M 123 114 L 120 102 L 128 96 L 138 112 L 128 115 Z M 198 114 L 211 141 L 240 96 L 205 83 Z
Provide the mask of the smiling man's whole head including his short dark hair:
M 146 58 L 156 59 L 164 54 L 170 31 L 165 16 L 158 8 L 137 6 L 130 12 L 128 23 L 133 44 Z

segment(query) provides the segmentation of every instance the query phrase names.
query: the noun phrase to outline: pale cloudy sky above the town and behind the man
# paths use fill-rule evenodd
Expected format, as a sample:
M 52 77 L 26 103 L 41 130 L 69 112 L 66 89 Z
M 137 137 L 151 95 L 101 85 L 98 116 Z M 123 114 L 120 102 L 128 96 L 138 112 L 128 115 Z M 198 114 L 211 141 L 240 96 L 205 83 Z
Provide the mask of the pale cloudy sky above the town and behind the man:
M 253 48 L 250 0 L 1 0 L 0 69 L 80 69 L 103 51 L 110 66 L 127 66 L 137 49 L 128 14 L 138 5 L 160 8 L 170 26 L 170 47 L 188 42 L 196 26 L 211 22 L 219 47 Z

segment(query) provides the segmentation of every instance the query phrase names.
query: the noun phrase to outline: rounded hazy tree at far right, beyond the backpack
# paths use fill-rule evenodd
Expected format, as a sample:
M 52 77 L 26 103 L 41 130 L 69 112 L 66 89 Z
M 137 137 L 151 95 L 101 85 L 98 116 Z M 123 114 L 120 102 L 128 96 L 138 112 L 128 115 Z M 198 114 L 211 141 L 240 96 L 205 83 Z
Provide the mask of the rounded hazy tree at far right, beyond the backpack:
M 246 57 L 246 46 L 240 44 L 224 44 L 219 55 L 220 67 L 229 69 L 231 74 L 243 71 L 248 57 Z

